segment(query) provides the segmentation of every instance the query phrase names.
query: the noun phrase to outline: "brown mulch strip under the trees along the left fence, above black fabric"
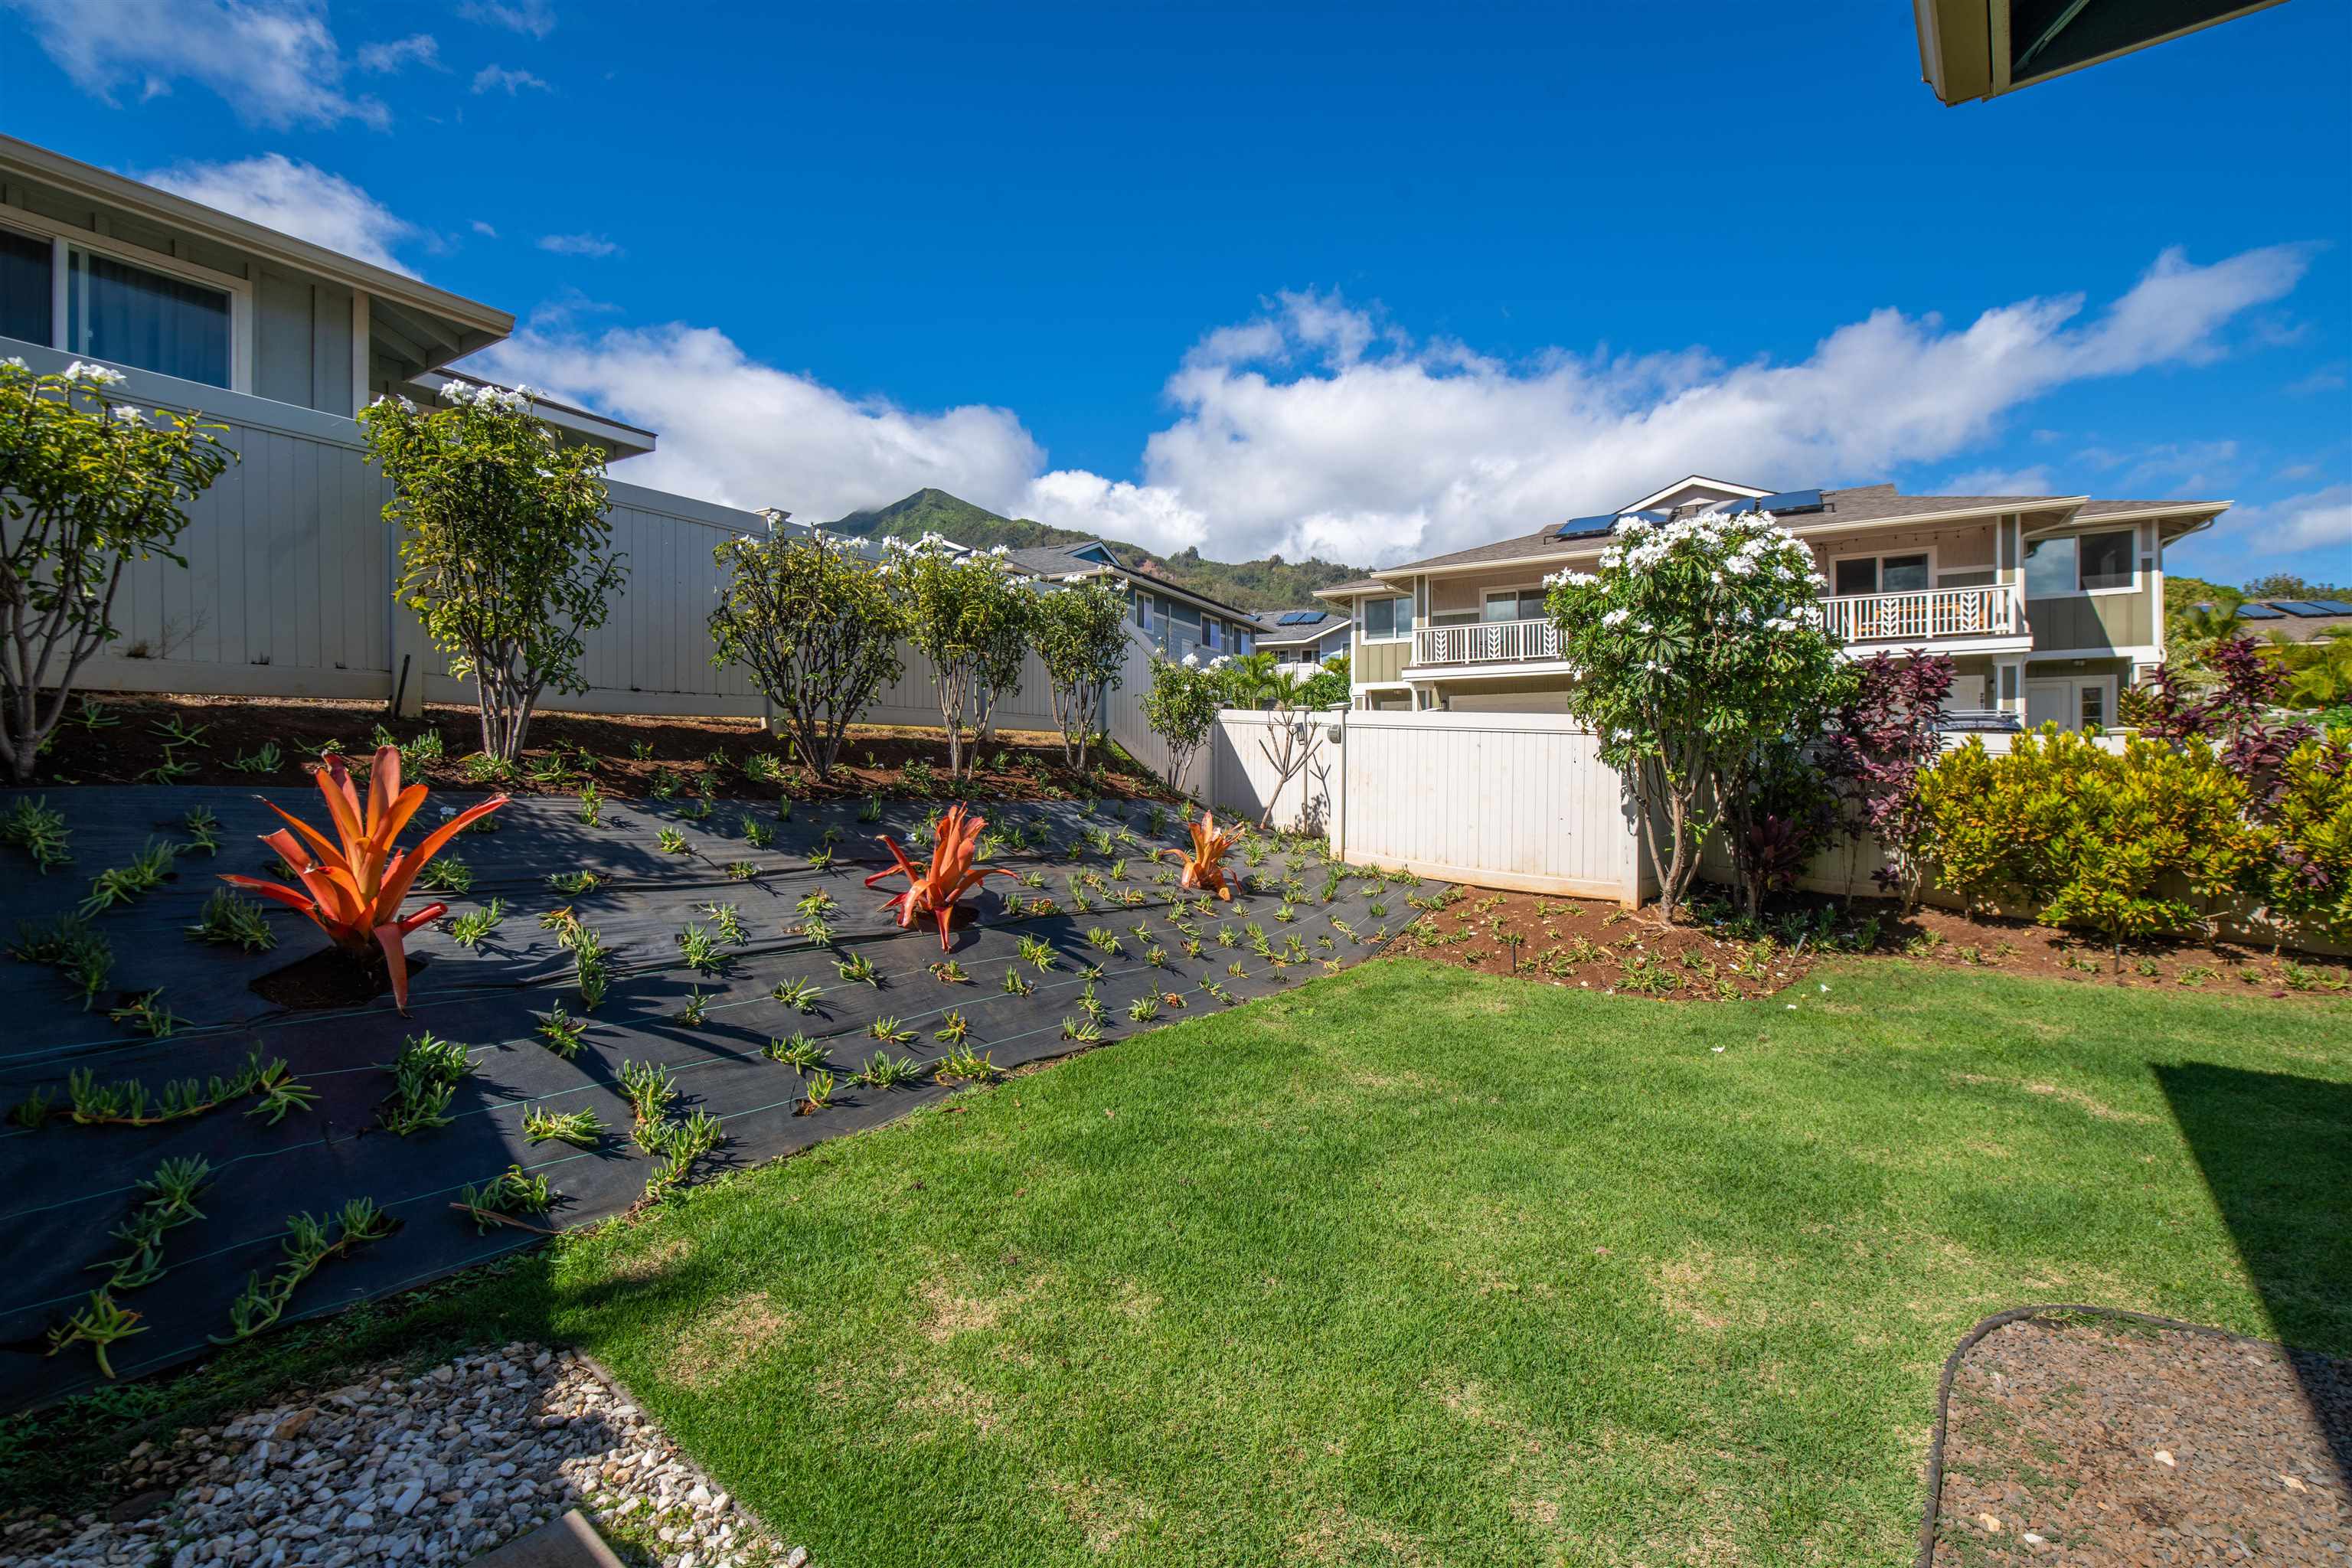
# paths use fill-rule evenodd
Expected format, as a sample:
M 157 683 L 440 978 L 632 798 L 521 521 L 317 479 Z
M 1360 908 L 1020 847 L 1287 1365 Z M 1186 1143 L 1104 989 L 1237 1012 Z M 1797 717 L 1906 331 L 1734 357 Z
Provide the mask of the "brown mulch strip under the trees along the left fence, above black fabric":
M 383 703 L 327 703 L 313 698 L 242 698 L 242 696 L 96 696 L 101 717 L 113 724 L 85 726 L 80 708 L 49 738 L 40 759 L 38 785 L 68 783 L 207 783 L 207 785 L 289 785 L 308 778 L 315 748 L 341 741 L 343 752 L 365 757 L 374 750 L 381 724 L 395 743 L 412 743 L 437 731 L 442 762 L 409 759 L 407 776 L 419 771 L 433 788 L 477 790 L 461 769 L 466 755 L 480 748 L 480 719 L 473 708 L 433 703 L 421 719 L 386 722 Z M 167 726 L 183 731 L 202 726 L 198 741 L 174 741 Z M 252 757 L 263 743 L 280 748 L 282 762 L 266 773 L 233 769 L 238 757 Z M 534 764 L 562 750 L 569 776 L 564 783 L 534 783 Z M 186 771 L 172 778 L 153 776 L 169 759 Z M 579 752 L 595 757 L 595 771 L 579 764 Z M 644 750 L 644 757 L 637 755 Z M 833 778 L 818 783 L 807 769 L 790 764 L 783 736 L 760 729 L 755 719 L 654 719 L 590 717 L 550 712 L 532 719 L 522 771 L 501 788 L 520 795 L 569 795 L 579 778 L 593 776 L 597 790 L 614 799 L 649 795 L 661 776 L 682 792 L 696 790 L 710 776 L 715 795 L 764 795 L 774 785 L 755 783 L 743 764 L 755 755 L 788 764 L 786 790 L 793 799 L 849 799 L 866 795 L 946 797 L 948 745 L 938 731 L 884 729 L 856 724 L 842 743 Z M 1094 759 L 1089 757 L 1089 764 Z M 908 764 L 915 764 L 913 776 Z M 929 778 L 924 776 L 929 769 Z M 1162 799 L 1160 780 L 1136 771 L 1124 757 L 1103 757 L 1096 776 L 1063 766 L 1061 736 L 1004 731 L 981 748 L 974 778 L 953 790 L 957 799 L 1068 799 L 1075 795 L 1110 795 Z

